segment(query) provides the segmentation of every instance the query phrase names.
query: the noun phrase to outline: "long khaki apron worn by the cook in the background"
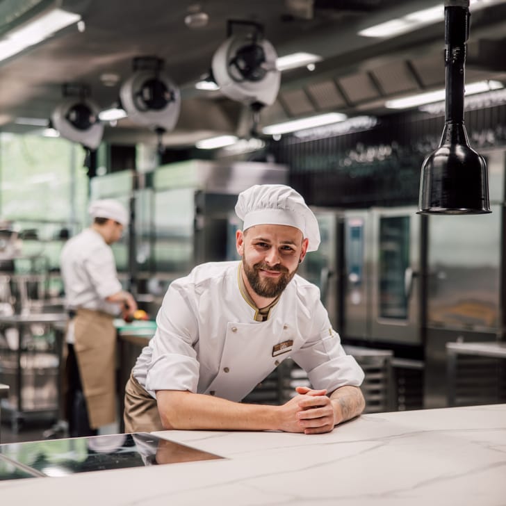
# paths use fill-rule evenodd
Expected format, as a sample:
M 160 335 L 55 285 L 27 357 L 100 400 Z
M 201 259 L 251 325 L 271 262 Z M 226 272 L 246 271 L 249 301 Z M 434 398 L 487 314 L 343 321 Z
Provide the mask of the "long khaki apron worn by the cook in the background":
M 116 330 L 113 316 L 78 309 L 74 340 L 90 427 L 97 429 L 116 420 Z

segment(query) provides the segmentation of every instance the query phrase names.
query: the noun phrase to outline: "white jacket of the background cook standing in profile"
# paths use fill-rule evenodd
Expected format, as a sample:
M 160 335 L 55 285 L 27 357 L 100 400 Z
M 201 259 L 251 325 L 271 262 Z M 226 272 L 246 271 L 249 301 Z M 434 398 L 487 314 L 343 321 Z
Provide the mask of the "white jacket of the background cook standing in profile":
M 122 290 L 117 279 L 113 250 L 93 229 L 85 229 L 67 240 L 60 255 L 65 284 L 65 304 L 69 309 L 92 309 L 116 315 L 117 304 L 106 297 Z

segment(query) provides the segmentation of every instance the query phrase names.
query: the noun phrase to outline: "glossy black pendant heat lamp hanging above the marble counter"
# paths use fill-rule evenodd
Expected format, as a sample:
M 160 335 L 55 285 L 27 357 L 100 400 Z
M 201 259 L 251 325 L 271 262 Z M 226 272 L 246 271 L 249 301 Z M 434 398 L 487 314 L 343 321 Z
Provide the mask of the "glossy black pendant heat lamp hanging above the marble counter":
M 464 65 L 469 0 L 445 0 L 445 126 L 422 165 L 418 214 L 490 213 L 487 164 L 469 146 L 464 126 Z

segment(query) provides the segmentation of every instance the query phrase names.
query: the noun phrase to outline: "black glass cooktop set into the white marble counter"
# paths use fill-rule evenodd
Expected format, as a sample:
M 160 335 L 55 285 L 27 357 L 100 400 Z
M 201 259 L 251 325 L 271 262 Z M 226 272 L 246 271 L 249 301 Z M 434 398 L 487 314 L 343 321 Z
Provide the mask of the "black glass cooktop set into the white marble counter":
M 221 459 L 147 432 L 0 445 L 0 480 Z

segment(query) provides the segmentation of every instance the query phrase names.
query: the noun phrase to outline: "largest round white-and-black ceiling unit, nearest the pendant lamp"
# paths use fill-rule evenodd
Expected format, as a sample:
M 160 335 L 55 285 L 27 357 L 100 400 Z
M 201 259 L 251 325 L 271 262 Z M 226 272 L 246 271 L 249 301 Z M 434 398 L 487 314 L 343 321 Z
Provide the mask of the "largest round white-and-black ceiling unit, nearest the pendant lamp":
M 242 24 L 252 30 L 233 35 L 234 24 Z M 276 60 L 277 53 L 272 44 L 263 38 L 261 24 L 229 19 L 227 40 L 215 51 L 211 71 L 223 95 L 250 107 L 254 136 L 261 109 L 273 104 L 279 91 L 281 72 L 276 67 Z

